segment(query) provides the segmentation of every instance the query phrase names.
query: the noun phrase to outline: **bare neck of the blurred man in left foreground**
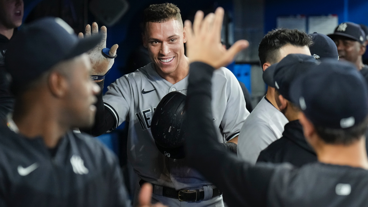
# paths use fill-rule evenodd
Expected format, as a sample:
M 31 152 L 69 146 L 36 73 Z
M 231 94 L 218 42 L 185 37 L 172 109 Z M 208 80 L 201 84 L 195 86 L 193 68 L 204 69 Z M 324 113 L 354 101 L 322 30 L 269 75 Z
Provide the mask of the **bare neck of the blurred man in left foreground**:
M 63 124 L 58 107 L 47 100 L 30 100 L 27 105 L 21 112 L 14 109 L 19 133 L 29 138 L 41 136 L 48 148 L 54 148 L 70 126 Z

